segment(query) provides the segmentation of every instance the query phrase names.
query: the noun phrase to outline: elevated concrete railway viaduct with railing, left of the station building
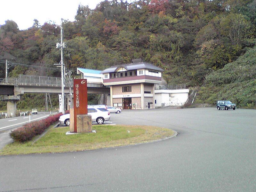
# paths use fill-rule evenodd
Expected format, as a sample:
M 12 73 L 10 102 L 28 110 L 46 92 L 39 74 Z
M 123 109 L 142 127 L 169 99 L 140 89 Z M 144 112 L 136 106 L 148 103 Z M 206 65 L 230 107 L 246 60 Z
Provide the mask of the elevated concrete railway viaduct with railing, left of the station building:
M 73 93 L 73 79 L 64 85 L 64 93 Z M 7 116 L 15 116 L 16 103 L 24 93 L 61 93 L 61 78 L 19 75 L 18 78 L 0 79 L 0 99 L 7 101 Z M 110 88 L 99 82 L 88 82 L 87 93 L 104 94 L 107 98 Z

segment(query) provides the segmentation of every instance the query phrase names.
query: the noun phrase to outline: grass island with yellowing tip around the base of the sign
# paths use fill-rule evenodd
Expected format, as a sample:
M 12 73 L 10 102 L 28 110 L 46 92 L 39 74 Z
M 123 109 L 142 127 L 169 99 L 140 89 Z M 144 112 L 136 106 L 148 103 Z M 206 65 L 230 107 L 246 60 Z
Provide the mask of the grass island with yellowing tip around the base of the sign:
M 97 133 L 66 135 L 69 127 L 50 128 L 38 141 L 11 143 L 0 150 L 0 155 L 60 153 L 133 145 L 166 138 L 174 133 L 165 128 L 128 125 L 94 125 L 93 130 Z

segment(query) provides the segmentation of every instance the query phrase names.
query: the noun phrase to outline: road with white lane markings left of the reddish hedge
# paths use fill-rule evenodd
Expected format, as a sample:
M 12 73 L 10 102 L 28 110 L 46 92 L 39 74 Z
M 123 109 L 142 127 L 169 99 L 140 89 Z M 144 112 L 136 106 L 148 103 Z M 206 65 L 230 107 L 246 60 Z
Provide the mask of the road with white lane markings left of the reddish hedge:
M 54 112 L 56 113 L 56 112 Z M 31 115 L 30 121 L 40 120 L 50 115 L 50 112 L 38 112 Z M 18 116 L 6 119 L 0 119 L 0 149 L 12 142 L 9 132 L 29 122 L 29 116 Z

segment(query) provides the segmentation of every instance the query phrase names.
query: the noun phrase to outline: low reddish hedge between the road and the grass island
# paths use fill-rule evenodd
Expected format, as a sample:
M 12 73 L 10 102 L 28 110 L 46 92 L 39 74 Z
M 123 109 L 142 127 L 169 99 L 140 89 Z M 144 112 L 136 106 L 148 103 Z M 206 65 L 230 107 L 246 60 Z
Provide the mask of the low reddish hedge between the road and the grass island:
M 34 121 L 28 124 L 23 125 L 22 127 L 13 130 L 10 133 L 10 136 L 15 141 L 29 141 L 36 135 L 40 135 L 47 129 L 52 123 L 59 120 L 62 113 L 49 116 L 45 119 Z

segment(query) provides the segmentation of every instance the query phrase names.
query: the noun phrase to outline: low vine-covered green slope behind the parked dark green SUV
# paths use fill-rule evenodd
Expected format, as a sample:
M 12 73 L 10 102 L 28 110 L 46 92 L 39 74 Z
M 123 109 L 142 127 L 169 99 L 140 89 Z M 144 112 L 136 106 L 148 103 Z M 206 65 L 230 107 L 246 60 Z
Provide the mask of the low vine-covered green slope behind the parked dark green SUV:
M 256 47 L 207 76 L 196 102 L 216 104 L 227 99 L 239 107 L 256 108 Z

